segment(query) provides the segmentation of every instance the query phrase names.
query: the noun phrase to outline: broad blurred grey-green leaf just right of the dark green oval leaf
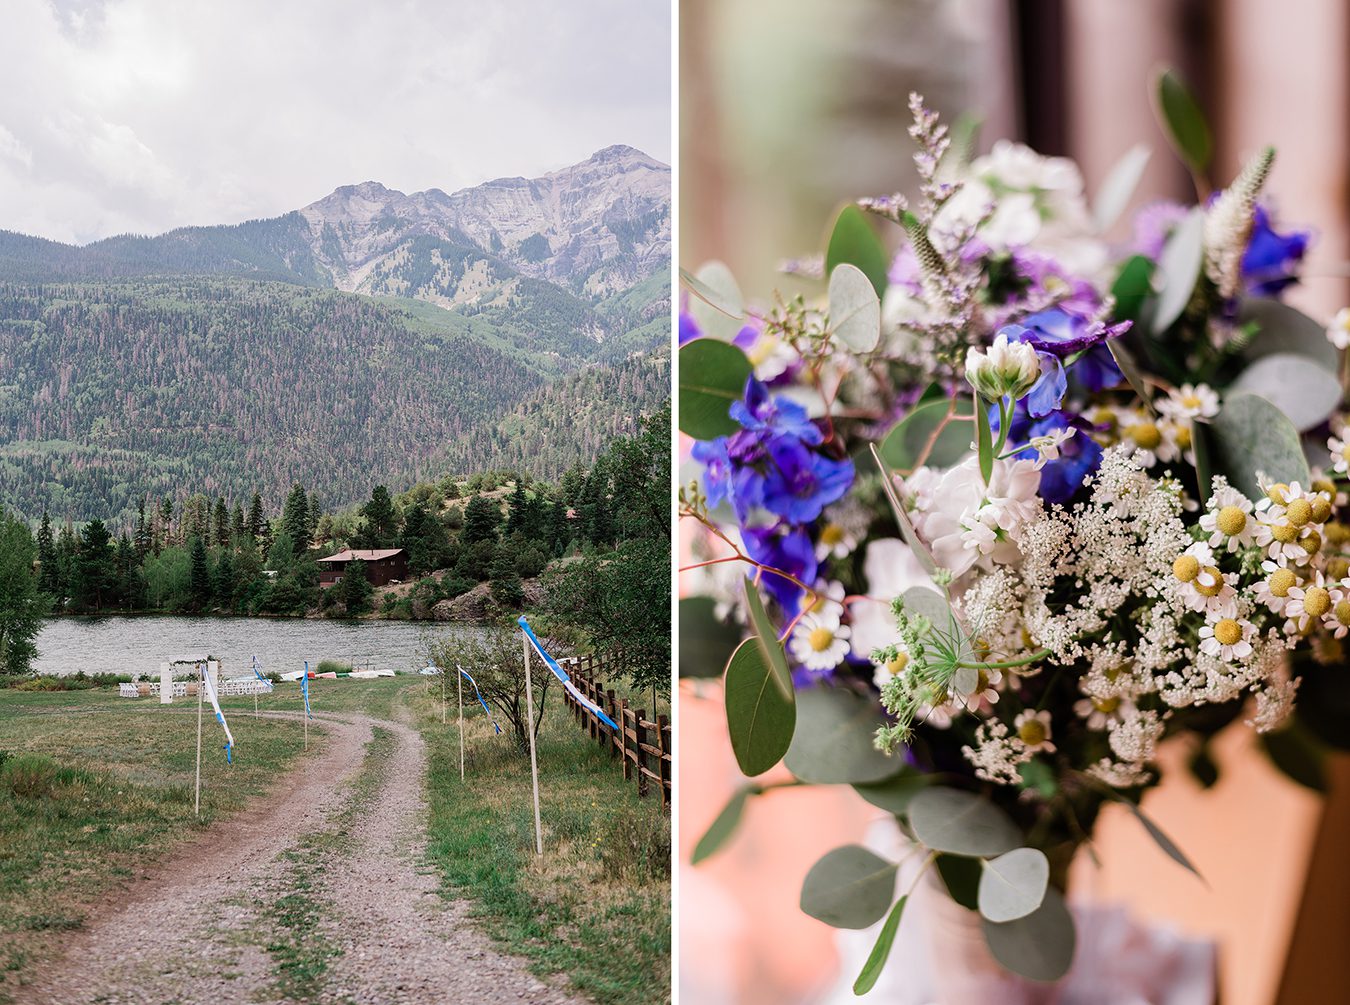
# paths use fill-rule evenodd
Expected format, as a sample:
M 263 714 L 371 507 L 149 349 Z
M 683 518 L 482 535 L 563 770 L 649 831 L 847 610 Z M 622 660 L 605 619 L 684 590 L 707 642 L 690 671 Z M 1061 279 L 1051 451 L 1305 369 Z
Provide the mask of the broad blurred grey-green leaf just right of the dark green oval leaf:
M 798 729 L 783 763 L 803 782 L 880 782 L 905 769 L 872 743 L 882 724 L 876 702 L 844 688 L 811 688 L 796 696 Z

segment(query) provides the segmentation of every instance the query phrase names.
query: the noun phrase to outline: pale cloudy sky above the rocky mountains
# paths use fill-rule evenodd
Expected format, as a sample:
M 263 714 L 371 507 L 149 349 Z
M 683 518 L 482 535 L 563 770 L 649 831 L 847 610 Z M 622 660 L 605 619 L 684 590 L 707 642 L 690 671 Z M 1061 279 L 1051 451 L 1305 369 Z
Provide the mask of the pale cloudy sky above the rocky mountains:
M 4 0 L 0 230 L 85 243 L 670 163 L 670 0 Z

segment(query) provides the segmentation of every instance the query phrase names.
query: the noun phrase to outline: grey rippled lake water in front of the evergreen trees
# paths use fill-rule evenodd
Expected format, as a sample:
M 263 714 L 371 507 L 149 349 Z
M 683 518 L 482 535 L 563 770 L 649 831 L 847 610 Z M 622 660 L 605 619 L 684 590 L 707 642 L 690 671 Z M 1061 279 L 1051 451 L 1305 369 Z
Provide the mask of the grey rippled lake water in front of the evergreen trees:
M 225 677 L 247 674 L 256 655 L 263 673 L 313 669 L 321 659 L 374 670 L 427 665 L 427 640 L 464 625 L 431 621 L 312 621 L 262 617 L 55 617 L 38 635 L 39 674 L 143 674 L 170 658 L 209 652 Z

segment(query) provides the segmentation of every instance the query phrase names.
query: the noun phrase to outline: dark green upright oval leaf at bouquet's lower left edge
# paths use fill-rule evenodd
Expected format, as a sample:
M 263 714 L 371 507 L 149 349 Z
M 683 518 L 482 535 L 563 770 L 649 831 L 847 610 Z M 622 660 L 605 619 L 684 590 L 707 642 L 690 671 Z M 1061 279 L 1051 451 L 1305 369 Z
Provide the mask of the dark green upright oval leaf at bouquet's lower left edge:
M 736 763 L 751 777 L 768 771 L 792 742 L 796 706 L 774 684 L 759 639 L 747 639 L 732 654 L 724 692 Z

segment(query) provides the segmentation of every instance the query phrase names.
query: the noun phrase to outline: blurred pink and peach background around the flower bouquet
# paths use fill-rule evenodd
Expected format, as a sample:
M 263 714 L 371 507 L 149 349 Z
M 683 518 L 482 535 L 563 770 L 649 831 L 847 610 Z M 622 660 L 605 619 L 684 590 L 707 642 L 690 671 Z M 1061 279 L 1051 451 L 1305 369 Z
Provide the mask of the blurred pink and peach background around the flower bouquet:
M 1278 149 L 1268 186 L 1278 216 L 1318 231 L 1291 300 L 1327 317 L 1347 303 L 1347 43 L 1341 0 L 686 0 L 680 265 L 720 258 L 751 297 L 768 294 L 776 263 L 818 250 L 841 201 L 909 186 L 911 89 L 946 116 L 983 112 L 986 146 L 1013 136 L 1075 157 L 1089 192 L 1145 142 L 1153 159 L 1135 204 L 1192 196 L 1148 101 L 1150 70 L 1168 63 L 1210 113 L 1215 177 L 1261 145 Z M 1242 728 L 1219 738 L 1208 792 L 1187 754 L 1165 751 L 1168 781 L 1145 809 L 1207 885 L 1108 810 L 1103 869 L 1079 860 L 1071 897 L 1215 940 L 1226 1005 L 1345 1001 L 1332 989 L 1350 946 L 1350 758 L 1334 762 L 1323 798 L 1277 774 Z M 744 781 L 716 681 L 680 684 L 679 779 L 682 1000 L 817 1000 L 838 978 L 834 932 L 799 912 L 801 879 L 880 810 L 837 788 L 772 792 L 729 847 L 688 867 Z

